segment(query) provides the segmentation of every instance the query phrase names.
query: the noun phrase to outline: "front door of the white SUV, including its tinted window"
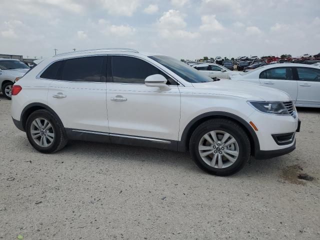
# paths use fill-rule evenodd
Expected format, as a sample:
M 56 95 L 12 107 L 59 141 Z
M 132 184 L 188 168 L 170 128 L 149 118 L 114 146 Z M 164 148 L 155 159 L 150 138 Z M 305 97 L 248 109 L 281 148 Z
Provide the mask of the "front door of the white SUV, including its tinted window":
M 144 59 L 114 55 L 108 56 L 110 64 L 112 75 L 108 75 L 106 91 L 111 136 L 177 141 L 180 119 L 177 83 Z M 170 89 L 146 86 L 144 79 L 152 74 L 164 75 Z

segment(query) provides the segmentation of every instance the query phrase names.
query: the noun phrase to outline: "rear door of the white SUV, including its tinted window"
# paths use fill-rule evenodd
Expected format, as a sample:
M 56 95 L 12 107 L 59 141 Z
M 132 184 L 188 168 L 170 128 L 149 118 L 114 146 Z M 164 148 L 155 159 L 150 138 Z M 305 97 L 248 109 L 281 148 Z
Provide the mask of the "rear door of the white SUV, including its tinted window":
M 49 84 L 47 102 L 64 127 L 108 132 L 106 58 L 87 56 L 56 63 L 59 69 Z

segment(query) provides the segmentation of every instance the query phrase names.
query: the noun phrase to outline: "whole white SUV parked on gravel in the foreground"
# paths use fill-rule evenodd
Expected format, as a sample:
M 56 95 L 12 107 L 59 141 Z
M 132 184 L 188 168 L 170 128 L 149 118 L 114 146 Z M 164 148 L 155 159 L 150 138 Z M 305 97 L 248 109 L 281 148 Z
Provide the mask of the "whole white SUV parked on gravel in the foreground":
M 12 88 L 12 118 L 40 152 L 68 139 L 189 150 L 217 175 L 249 156 L 295 148 L 299 122 L 279 90 L 208 76 L 172 57 L 131 49 L 65 53 L 38 62 Z

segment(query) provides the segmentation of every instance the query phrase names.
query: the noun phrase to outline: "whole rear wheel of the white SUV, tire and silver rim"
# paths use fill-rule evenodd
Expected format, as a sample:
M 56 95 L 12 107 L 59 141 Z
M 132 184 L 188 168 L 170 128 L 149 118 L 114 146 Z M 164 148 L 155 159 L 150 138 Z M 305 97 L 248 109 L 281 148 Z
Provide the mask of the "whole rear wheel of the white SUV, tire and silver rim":
M 43 153 L 60 150 L 67 137 L 60 121 L 49 111 L 32 112 L 26 120 L 25 131 L 31 145 Z

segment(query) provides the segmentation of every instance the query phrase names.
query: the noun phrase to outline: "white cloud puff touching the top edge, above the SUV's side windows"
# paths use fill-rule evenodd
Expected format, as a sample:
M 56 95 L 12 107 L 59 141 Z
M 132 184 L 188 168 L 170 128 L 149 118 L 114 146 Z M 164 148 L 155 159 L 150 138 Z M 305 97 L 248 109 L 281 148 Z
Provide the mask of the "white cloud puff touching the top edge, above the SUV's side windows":
M 140 0 L 101 0 L 102 7 L 110 15 L 132 16 L 140 5 Z

